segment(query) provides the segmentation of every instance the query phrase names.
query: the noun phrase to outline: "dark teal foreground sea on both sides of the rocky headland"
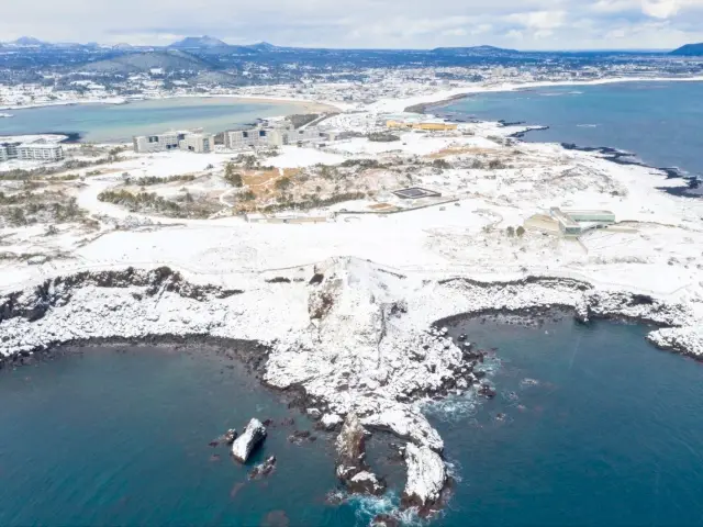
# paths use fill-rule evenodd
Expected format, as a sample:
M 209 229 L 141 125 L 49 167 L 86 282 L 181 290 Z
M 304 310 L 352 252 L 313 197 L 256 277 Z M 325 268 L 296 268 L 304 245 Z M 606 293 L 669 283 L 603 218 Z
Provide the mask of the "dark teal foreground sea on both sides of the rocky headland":
M 701 365 L 655 350 L 639 326 L 453 330 L 499 348 L 500 394 L 431 408 L 461 480 L 434 525 L 703 523 Z M 257 458 L 275 453 L 278 469 L 247 482 L 211 439 L 253 415 L 311 423 L 227 366 L 98 348 L 0 374 L 0 525 L 368 525 L 398 501 L 402 479 L 386 502 L 326 503 L 331 438 L 293 446 L 294 427 L 270 430 Z

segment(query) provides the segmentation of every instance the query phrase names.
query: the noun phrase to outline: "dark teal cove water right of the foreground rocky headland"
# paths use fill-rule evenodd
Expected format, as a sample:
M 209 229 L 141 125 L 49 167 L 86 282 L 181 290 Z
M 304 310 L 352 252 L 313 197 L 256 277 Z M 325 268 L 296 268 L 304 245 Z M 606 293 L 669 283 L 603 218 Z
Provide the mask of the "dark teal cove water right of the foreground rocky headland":
M 498 347 L 499 396 L 438 416 L 464 479 L 446 525 L 703 524 L 703 365 L 635 325 L 456 330 Z

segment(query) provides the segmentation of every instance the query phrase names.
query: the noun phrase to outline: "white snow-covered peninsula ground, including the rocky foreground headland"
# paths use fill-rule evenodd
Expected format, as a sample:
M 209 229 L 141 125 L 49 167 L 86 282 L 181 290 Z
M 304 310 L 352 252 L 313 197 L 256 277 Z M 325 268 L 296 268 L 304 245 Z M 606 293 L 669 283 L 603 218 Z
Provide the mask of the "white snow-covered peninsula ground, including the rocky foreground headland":
M 380 108 L 414 102 L 341 114 L 327 125 L 376 130 Z M 267 382 L 300 385 L 311 408 L 354 412 L 365 426 L 391 429 L 414 445 L 406 452 L 406 492 L 432 503 L 444 484 L 437 481 L 445 478 L 437 464 L 443 441 L 419 403 L 425 394 L 467 390 L 475 381 L 462 350 L 431 328 L 435 321 L 557 304 L 582 319 L 628 317 L 667 326 L 650 340 L 703 354 L 703 201 L 658 190 L 682 182 L 652 169 L 558 145 L 505 142 L 515 131 L 483 123 L 455 134 L 403 133 L 393 143 L 359 137 L 325 150 L 290 147 L 267 158 L 280 169 L 366 158 L 388 161 L 390 168 L 380 170 L 402 171 L 423 161 L 413 184 L 456 200 L 315 224 L 141 215 L 141 226 L 130 228 L 126 211 L 97 200 L 122 172 L 165 177 L 208 165 L 221 169 L 232 156 L 129 156 L 102 167 L 109 173 L 75 189 L 79 205 L 100 222 L 98 236 L 66 244 L 67 255 L 43 265 L 0 260 L 0 291 L 8 295 L 0 304 L 0 354 L 96 337 L 210 334 L 260 340 L 270 347 Z M 445 162 L 434 167 L 436 159 Z M 496 159 L 500 167 L 487 168 Z M 390 199 L 392 190 L 379 191 L 375 200 Z M 373 202 L 357 204 L 368 209 Z M 531 228 L 510 234 L 509 227 L 553 206 L 609 210 L 618 223 L 579 239 Z M 338 203 L 311 214 L 342 208 L 352 210 Z M 3 227 L 0 248 L 41 253 L 41 236 Z M 104 274 L 160 266 L 182 278 L 136 271 L 116 285 Z M 83 271 L 89 273 L 76 283 L 56 280 Z M 196 285 L 216 291 L 194 294 Z M 34 316 L 37 310 L 42 316 Z

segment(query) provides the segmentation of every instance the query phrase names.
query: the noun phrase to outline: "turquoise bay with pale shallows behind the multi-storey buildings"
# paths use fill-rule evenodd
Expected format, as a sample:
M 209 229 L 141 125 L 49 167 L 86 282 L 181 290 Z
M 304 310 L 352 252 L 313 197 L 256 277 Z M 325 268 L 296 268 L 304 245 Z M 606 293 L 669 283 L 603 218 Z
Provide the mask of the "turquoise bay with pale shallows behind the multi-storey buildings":
M 257 117 L 304 113 L 299 104 L 242 102 L 232 98 L 176 98 L 129 104 L 76 104 L 7 111 L 0 135 L 77 132 L 96 143 L 131 142 L 133 135 L 201 127 L 217 133 Z

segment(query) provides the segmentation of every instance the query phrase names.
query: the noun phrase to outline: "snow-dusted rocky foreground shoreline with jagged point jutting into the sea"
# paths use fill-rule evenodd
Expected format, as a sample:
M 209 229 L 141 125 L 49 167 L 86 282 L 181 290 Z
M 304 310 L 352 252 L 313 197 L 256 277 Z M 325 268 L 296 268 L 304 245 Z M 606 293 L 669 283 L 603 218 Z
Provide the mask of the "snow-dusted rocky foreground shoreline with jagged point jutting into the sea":
M 700 326 L 684 305 L 577 280 L 426 280 L 349 257 L 302 272 L 304 281 L 260 277 L 242 289 L 193 283 L 169 268 L 57 277 L 0 299 L 0 355 L 7 366 L 20 366 L 68 343 L 234 344 L 233 357 L 265 385 L 288 393 L 290 405 L 321 428 L 336 430 L 354 415 L 364 429 L 406 441 L 403 503 L 426 513 L 440 506 L 447 478 L 444 441 L 422 402 L 483 386 L 473 372 L 479 357 L 443 330 L 449 317 L 535 316 L 558 306 L 583 323 L 655 324 L 660 329 L 649 334 L 652 344 L 703 356 Z M 381 492 L 366 466 L 354 467 L 346 474 L 352 491 Z

